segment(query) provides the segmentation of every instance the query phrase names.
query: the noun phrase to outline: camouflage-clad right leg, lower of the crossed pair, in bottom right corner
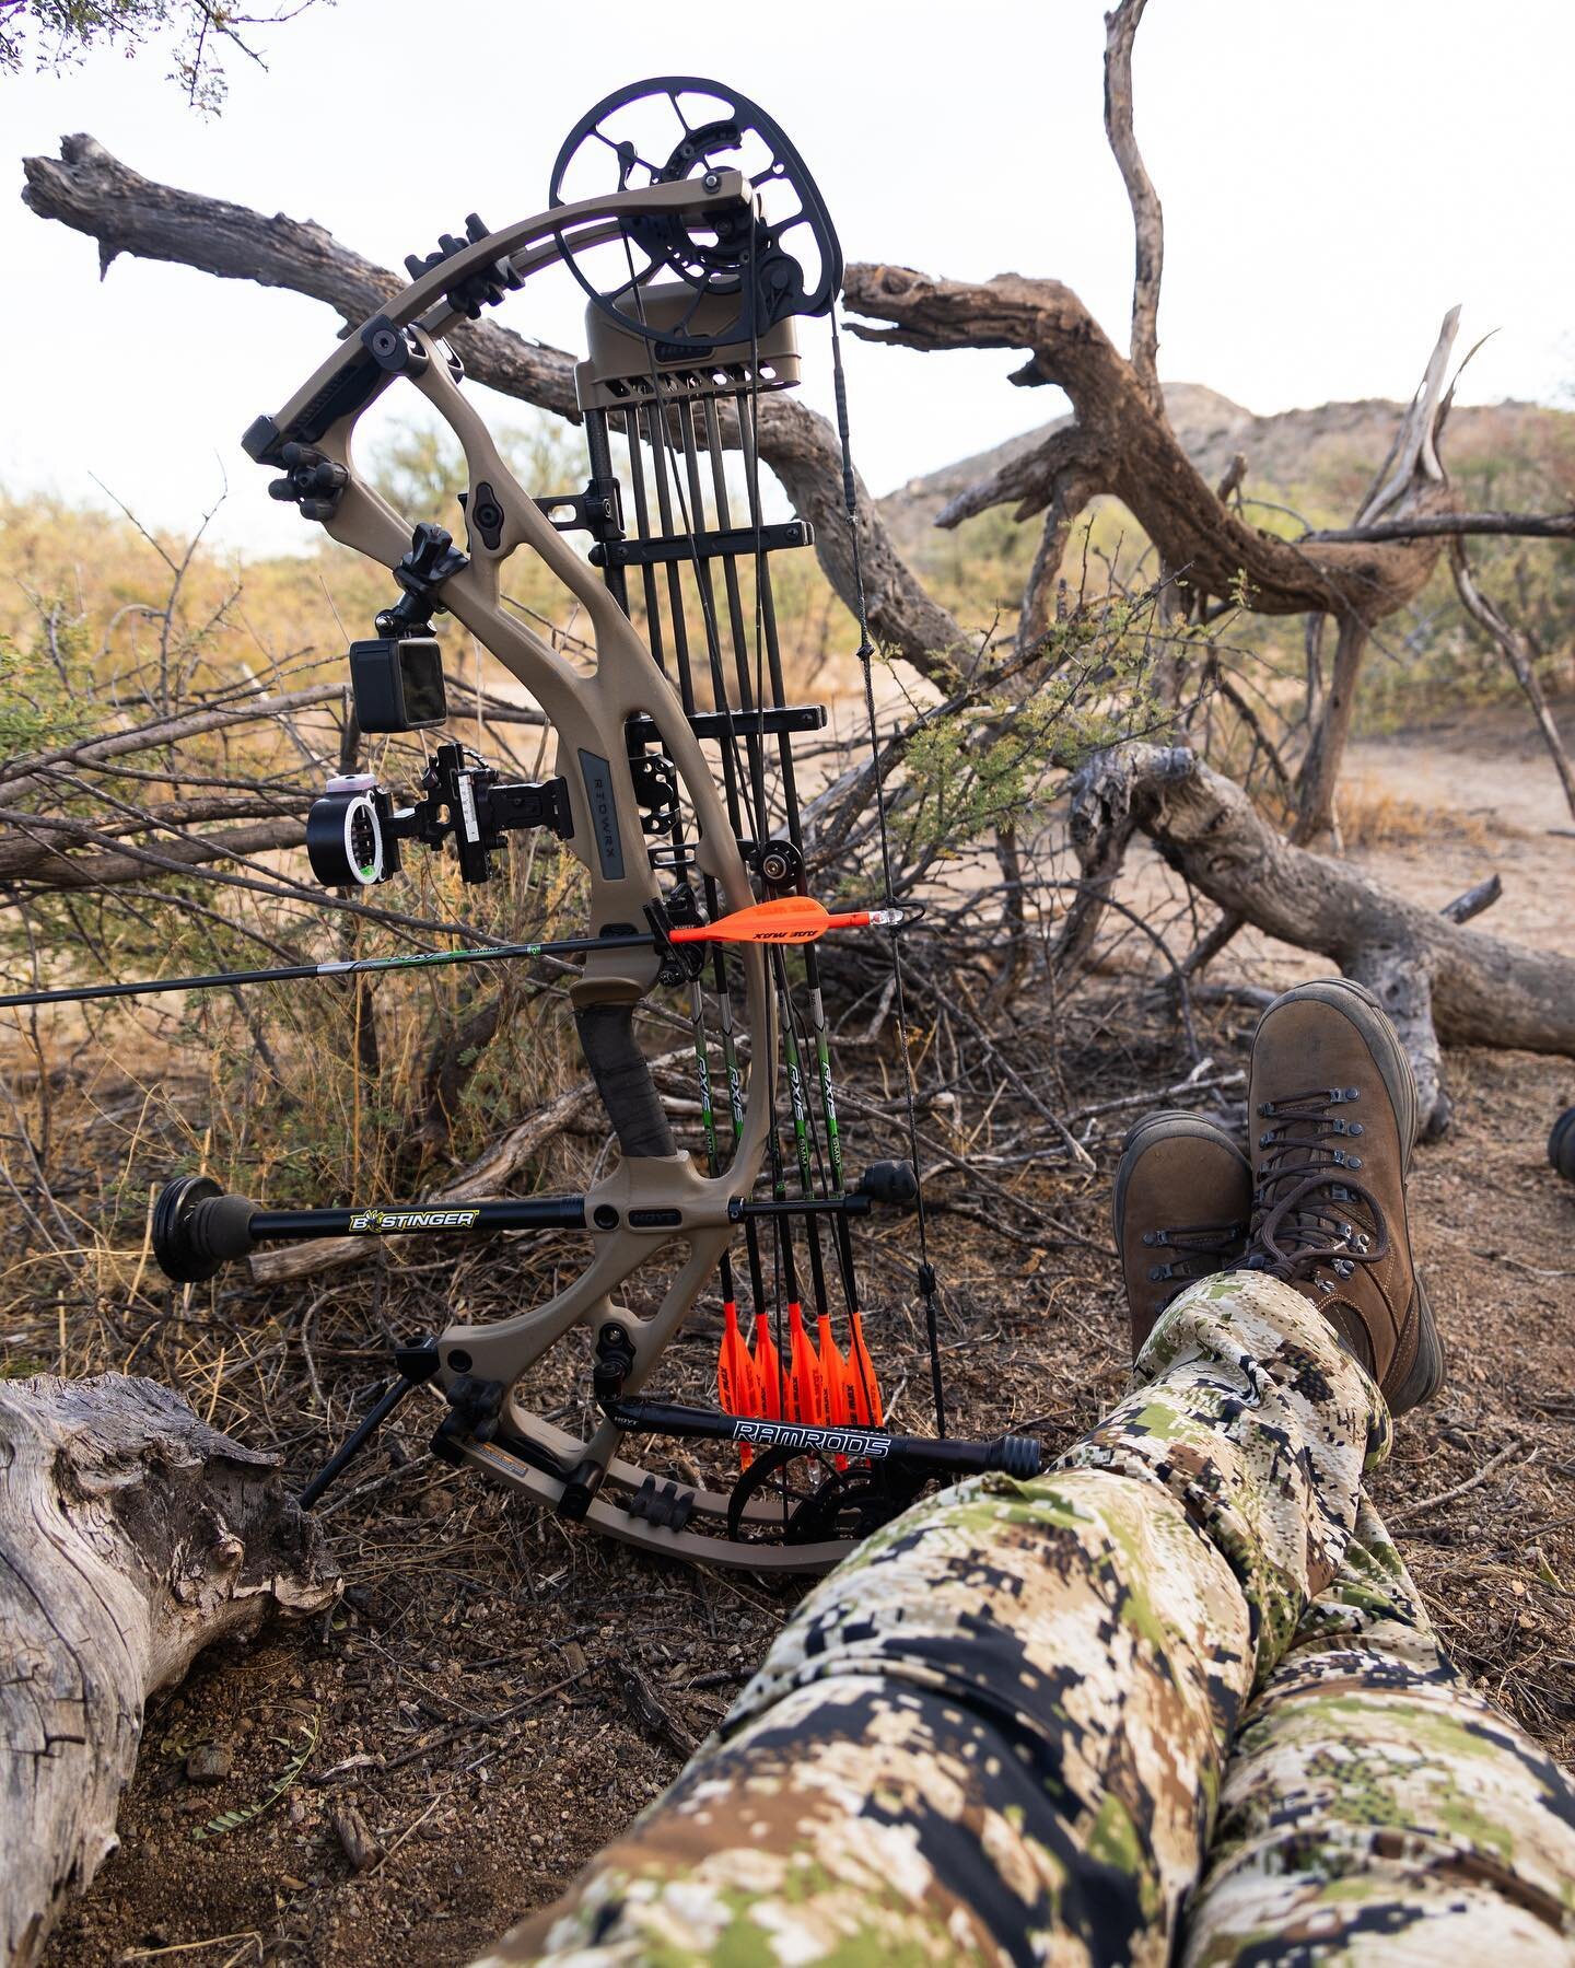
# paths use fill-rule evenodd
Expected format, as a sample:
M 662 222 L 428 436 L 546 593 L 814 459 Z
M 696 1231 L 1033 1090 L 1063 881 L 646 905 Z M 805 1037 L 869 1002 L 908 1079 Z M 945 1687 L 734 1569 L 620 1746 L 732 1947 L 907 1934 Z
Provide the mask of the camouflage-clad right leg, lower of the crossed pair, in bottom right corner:
M 1372 1506 L 1250 1702 L 1185 1962 L 1575 1960 L 1575 1791 L 1449 1661 Z

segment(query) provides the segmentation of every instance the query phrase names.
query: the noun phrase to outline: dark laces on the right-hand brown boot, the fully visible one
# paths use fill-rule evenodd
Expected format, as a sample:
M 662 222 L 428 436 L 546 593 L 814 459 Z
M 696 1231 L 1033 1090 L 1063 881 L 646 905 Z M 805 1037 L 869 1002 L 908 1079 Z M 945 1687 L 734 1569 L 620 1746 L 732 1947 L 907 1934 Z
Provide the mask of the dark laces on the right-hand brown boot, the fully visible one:
M 1246 1267 L 1295 1283 L 1315 1279 L 1335 1291 L 1325 1267 L 1351 1277 L 1358 1263 L 1378 1263 L 1390 1248 L 1388 1224 L 1374 1195 L 1353 1179 L 1360 1153 L 1345 1143 L 1362 1134 L 1358 1120 L 1333 1108 L 1360 1100 L 1358 1086 L 1317 1086 L 1284 1100 L 1264 1100 L 1258 1136 L 1258 1187 Z

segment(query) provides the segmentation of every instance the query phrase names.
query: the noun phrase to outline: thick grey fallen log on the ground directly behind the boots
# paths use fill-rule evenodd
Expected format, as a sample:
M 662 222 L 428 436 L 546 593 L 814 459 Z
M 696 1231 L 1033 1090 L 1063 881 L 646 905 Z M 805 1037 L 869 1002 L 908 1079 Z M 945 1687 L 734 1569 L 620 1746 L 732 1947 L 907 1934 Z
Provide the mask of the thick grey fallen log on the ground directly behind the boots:
M 1463 929 L 1347 862 L 1293 846 L 1232 779 L 1181 746 L 1097 754 L 1073 783 L 1073 811 L 1091 838 L 1130 815 L 1221 909 L 1372 988 L 1412 1055 L 1425 1136 L 1449 1124 L 1439 1041 L 1575 1057 L 1575 958 Z

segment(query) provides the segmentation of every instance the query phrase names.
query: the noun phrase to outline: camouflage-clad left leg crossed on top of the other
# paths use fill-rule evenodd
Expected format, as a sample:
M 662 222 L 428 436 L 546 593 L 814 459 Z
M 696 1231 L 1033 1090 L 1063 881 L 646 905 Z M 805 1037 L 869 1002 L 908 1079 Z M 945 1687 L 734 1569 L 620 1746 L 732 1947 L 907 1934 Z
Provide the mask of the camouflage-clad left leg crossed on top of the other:
M 1382 1407 L 1252 1273 L 1187 1291 L 1136 1378 L 1055 1472 L 872 1537 L 492 1958 L 1164 1962 L 1225 1746 L 1339 1565 Z

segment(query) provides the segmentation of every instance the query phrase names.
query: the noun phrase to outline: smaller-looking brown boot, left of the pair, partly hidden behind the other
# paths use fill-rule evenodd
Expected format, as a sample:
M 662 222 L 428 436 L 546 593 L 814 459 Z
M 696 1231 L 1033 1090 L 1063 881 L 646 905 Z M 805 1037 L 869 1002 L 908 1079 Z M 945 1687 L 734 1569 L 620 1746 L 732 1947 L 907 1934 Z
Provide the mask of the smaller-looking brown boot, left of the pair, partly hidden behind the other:
M 1110 1202 L 1136 1360 L 1154 1321 L 1199 1277 L 1240 1263 L 1252 1169 L 1197 1114 L 1150 1114 L 1126 1136 Z

